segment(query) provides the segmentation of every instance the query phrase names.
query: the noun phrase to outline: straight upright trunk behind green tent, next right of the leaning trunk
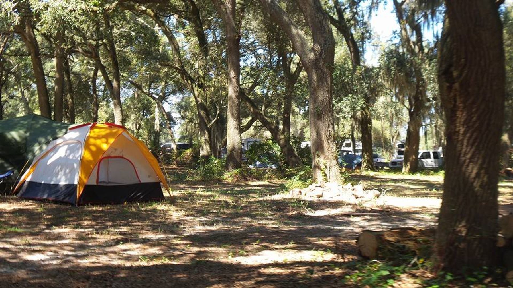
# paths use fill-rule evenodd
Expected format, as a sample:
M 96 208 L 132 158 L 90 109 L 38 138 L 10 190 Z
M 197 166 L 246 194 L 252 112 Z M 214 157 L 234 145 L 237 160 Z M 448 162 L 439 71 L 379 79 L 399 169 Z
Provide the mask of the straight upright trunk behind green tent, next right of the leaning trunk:
M 55 81 L 53 97 L 53 120 L 63 121 L 63 99 L 64 99 L 64 59 L 66 54 L 62 47 L 62 35 L 57 32 L 57 41 L 55 43 Z

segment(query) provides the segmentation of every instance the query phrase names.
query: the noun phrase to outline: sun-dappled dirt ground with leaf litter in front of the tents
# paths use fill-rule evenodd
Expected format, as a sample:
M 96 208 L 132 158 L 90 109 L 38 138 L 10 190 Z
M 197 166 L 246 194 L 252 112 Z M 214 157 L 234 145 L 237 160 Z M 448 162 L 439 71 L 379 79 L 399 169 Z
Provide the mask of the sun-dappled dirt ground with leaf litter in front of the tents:
M 180 181 L 165 202 L 116 206 L 2 196 L 0 286 L 348 286 L 361 230 L 432 227 L 442 195 L 441 176 L 353 175 L 351 182 L 385 196 L 358 206 L 277 199 L 274 181 Z M 513 181 L 500 191 L 501 212 L 509 212 Z

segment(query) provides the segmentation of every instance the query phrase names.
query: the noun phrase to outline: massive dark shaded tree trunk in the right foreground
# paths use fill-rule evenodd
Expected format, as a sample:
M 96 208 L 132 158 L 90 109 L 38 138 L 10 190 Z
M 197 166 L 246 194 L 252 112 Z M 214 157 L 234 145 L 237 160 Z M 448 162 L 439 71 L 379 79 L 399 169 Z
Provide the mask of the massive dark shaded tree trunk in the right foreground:
M 446 117 L 437 268 L 497 263 L 498 172 L 504 114 L 502 24 L 495 0 L 446 1 L 439 85 Z

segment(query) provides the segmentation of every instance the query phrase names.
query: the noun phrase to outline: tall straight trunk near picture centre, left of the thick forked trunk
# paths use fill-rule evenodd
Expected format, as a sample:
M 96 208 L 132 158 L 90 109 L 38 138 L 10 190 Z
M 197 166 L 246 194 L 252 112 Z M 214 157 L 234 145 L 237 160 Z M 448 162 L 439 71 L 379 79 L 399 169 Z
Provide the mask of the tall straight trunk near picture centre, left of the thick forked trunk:
M 241 75 L 241 36 L 235 23 L 235 0 L 213 0 L 223 18 L 228 56 L 228 112 L 226 116 L 226 169 L 242 166 L 241 103 L 239 99 Z

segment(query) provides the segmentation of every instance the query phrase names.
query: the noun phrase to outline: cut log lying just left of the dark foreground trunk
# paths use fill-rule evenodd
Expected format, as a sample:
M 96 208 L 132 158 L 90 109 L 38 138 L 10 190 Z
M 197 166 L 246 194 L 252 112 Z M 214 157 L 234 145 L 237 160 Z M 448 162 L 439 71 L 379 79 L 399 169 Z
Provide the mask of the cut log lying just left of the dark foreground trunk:
M 364 230 L 358 237 L 360 255 L 369 259 L 416 255 L 428 258 L 435 240 L 435 229 L 397 228 L 386 231 Z

